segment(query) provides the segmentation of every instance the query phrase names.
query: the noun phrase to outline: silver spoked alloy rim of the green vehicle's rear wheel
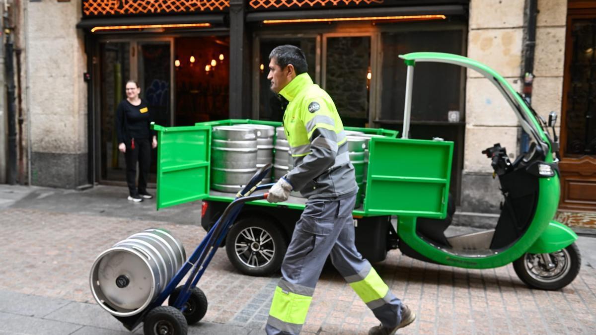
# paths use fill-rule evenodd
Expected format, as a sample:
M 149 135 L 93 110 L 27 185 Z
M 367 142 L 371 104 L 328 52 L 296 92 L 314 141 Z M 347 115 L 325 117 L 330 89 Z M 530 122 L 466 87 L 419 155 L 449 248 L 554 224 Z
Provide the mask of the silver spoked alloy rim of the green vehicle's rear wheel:
M 244 228 L 234 241 L 236 256 L 250 268 L 262 268 L 272 262 L 275 255 L 273 237 L 263 228 Z

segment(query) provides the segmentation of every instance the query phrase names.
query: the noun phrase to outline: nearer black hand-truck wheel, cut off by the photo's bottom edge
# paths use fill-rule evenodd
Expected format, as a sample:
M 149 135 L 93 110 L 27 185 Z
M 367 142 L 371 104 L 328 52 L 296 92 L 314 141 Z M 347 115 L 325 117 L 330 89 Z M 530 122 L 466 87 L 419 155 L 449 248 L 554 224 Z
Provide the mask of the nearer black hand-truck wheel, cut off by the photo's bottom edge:
M 152 309 L 143 320 L 145 335 L 187 335 L 188 325 L 182 312 L 172 306 Z

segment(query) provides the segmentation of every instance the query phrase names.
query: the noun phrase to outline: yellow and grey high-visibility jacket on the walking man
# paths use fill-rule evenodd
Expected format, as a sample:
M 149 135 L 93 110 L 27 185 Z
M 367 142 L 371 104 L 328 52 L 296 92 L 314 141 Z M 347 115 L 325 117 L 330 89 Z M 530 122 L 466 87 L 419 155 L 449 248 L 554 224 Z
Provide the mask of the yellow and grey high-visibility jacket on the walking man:
M 302 73 L 280 94 L 289 101 L 283 123 L 294 160 L 284 178 L 309 199 L 358 191 L 343 123 L 327 92 Z

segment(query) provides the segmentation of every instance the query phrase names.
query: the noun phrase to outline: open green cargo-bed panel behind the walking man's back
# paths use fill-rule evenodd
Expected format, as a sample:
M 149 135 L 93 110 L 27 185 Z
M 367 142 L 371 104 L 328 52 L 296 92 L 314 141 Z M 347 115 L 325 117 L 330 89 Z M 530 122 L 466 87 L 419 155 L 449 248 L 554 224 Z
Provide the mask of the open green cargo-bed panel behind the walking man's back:
M 445 218 L 453 142 L 372 138 L 364 211 Z

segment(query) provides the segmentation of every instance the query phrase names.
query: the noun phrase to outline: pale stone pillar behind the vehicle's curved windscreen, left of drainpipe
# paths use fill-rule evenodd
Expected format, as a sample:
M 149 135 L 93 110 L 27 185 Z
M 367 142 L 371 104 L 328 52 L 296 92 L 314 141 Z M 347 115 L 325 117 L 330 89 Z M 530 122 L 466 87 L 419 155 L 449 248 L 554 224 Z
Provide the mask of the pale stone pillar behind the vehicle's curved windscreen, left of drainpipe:
M 469 22 L 468 57 L 492 67 L 520 90 L 524 1 L 471 0 Z M 480 151 L 499 142 L 510 155 L 516 154 L 517 118 L 492 83 L 477 72 L 468 70 L 465 96 L 461 211 L 498 213 L 498 180 Z

